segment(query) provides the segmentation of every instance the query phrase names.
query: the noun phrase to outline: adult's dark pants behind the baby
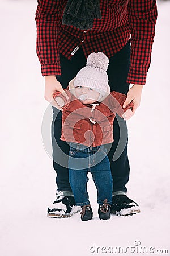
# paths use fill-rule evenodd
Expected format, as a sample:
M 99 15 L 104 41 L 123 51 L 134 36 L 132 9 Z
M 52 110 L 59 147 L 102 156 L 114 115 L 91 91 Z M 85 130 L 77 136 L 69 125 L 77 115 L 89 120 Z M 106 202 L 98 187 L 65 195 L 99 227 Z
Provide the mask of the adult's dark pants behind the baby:
M 57 80 L 61 83 L 63 88 L 66 88 L 68 82 L 73 79 L 78 71 L 86 65 L 86 58 L 80 48 L 71 60 L 67 60 L 60 55 L 61 72 L 62 76 L 58 76 Z M 129 90 L 129 84 L 126 82 L 130 65 L 130 43 L 128 42 L 124 48 L 116 55 L 109 59 L 108 77 L 111 91 L 127 94 Z M 67 169 L 69 145 L 66 142 L 60 140 L 61 137 L 61 118 L 62 112 L 53 108 L 53 122 L 52 122 L 52 144 L 53 144 L 53 166 L 56 170 L 57 177 L 56 183 L 58 190 L 71 191 L 69 183 L 69 175 Z M 121 128 L 120 128 L 121 127 Z M 121 130 L 121 139 L 120 139 Z M 129 180 L 129 160 L 127 154 L 128 147 L 128 129 L 126 127 L 126 121 L 116 115 L 114 120 L 113 129 L 114 142 L 111 146 L 111 150 L 108 152 L 108 158 L 111 164 L 112 176 L 113 176 L 113 192 L 124 191 Z M 113 155 L 117 149 L 117 145 L 121 148 L 121 155 L 118 159 L 114 160 Z M 117 158 L 117 157 L 116 157 Z M 75 181 L 76 182 L 76 181 Z

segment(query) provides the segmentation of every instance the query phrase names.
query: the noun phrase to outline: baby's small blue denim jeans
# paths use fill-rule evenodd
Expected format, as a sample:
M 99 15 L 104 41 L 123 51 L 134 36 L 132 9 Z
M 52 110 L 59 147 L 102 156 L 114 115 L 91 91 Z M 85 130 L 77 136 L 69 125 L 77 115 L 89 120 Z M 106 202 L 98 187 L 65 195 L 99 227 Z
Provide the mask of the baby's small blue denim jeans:
M 87 192 L 87 173 L 91 172 L 97 188 L 97 203 L 105 199 L 112 204 L 113 180 L 104 146 L 87 147 L 70 143 L 69 181 L 76 205 L 90 204 Z

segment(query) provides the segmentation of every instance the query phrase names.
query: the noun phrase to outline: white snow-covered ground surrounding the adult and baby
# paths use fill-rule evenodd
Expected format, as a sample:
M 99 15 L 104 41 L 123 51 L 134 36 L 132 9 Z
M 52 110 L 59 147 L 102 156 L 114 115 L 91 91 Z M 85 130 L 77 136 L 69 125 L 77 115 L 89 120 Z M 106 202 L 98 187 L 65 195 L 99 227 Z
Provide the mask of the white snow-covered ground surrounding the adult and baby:
M 1 255 L 110 255 L 120 254 L 118 249 L 115 251 L 118 246 L 122 254 L 129 256 L 170 255 L 170 2 L 158 2 L 147 85 L 140 108 L 128 121 L 128 189 L 129 196 L 141 206 L 141 213 L 99 220 L 96 189 L 90 180 L 94 219 L 88 222 L 80 221 L 79 213 L 68 220 L 46 217 L 46 208 L 55 198 L 56 175 L 41 141 L 41 121 L 48 103 L 36 56 L 37 3 L 1 0 L 0 5 Z

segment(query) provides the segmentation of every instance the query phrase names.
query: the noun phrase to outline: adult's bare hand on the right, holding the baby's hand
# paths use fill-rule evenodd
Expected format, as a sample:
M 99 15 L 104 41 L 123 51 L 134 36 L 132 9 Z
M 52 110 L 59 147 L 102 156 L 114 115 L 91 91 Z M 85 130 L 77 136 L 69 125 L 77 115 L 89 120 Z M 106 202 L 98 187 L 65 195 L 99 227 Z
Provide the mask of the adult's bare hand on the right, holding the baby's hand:
M 138 106 L 140 106 L 142 89 L 143 89 L 143 85 L 134 84 L 128 92 L 128 95 L 127 95 L 128 97 L 124 102 L 123 108 L 126 108 L 126 106 L 132 101 L 134 104 L 134 108 L 132 110 L 134 114 Z

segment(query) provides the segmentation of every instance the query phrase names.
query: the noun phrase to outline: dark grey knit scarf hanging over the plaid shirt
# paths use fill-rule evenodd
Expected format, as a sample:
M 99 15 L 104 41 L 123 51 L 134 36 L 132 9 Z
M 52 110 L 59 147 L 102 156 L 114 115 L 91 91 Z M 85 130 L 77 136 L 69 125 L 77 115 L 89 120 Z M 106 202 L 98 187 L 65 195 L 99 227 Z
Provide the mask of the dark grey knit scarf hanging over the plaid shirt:
M 80 30 L 89 30 L 95 18 L 101 19 L 99 0 L 69 0 L 63 14 L 62 24 L 72 25 Z

